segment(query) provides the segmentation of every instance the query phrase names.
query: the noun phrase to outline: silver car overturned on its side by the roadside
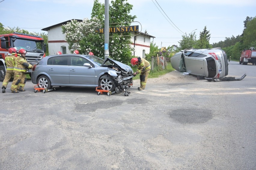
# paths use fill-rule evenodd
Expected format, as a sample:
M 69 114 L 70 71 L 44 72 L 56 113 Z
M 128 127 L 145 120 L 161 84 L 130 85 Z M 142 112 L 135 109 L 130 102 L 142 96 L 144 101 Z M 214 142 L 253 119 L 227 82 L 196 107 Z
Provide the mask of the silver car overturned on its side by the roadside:
M 206 78 L 223 78 L 228 74 L 227 54 L 221 48 L 181 50 L 171 58 L 172 67 Z

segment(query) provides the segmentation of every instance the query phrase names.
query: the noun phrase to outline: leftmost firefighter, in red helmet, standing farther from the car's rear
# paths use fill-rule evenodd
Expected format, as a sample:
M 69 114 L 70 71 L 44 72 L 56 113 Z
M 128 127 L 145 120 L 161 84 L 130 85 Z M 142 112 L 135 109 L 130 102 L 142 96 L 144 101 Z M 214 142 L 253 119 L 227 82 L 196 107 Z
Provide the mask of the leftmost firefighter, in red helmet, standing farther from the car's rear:
M 15 66 L 16 57 L 17 57 L 16 49 L 9 48 L 8 55 L 5 57 L 6 74 L 2 84 L 2 93 L 5 93 L 5 89 L 7 88 L 8 82 L 12 77 L 14 77 L 13 69 Z

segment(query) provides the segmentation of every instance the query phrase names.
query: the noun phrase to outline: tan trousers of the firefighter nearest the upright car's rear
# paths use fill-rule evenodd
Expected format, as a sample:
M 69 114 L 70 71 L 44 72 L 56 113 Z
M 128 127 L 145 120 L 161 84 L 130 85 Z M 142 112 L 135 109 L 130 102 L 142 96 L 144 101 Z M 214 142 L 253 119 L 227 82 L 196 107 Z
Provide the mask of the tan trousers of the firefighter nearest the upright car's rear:
M 11 91 L 23 90 L 27 81 L 25 72 L 14 72 L 14 79 L 11 84 Z

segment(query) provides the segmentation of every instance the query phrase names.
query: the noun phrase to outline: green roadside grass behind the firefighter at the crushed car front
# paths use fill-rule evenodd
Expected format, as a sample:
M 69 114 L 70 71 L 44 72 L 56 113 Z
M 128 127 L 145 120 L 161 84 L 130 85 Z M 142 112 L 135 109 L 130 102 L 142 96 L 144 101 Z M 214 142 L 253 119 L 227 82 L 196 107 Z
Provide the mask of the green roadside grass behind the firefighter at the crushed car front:
M 169 72 L 172 72 L 174 71 L 175 69 L 172 68 L 172 65 L 170 62 L 167 63 L 167 65 L 165 66 L 165 69 L 162 70 L 162 69 L 159 69 L 160 67 L 162 67 L 161 65 L 160 66 L 156 66 L 154 67 L 154 70 L 151 70 L 149 75 L 148 75 L 148 78 L 157 78 L 157 77 L 160 77 L 160 76 L 163 76 L 165 75 L 166 73 L 169 73 Z M 132 67 L 133 68 L 133 71 L 135 72 L 137 67 Z M 133 77 L 134 80 L 136 79 L 139 79 L 139 75 Z

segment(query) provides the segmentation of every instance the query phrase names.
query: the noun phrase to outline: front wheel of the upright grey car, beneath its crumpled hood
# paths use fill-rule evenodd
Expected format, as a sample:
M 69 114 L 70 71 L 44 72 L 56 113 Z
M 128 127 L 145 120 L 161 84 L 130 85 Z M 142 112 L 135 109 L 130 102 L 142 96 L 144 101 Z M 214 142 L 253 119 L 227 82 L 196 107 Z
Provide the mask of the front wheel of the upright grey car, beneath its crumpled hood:
M 99 87 L 102 90 L 115 91 L 116 83 L 109 75 L 104 75 L 99 79 Z

